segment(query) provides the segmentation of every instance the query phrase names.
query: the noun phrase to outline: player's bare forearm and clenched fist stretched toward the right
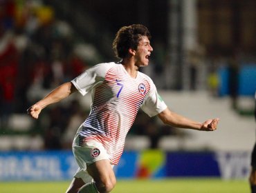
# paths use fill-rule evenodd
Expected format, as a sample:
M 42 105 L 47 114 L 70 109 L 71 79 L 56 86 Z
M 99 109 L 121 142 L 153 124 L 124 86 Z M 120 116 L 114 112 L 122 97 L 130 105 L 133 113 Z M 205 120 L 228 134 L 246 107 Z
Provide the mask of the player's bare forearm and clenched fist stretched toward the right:
M 158 114 L 158 117 L 167 125 L 176 128 L 188 128 L 192 130 L 213 131 L 217 129 L 219 119 L 208 119 L 203 123 L 192 121 L 184 116 L 170 111 L 168 108 Z

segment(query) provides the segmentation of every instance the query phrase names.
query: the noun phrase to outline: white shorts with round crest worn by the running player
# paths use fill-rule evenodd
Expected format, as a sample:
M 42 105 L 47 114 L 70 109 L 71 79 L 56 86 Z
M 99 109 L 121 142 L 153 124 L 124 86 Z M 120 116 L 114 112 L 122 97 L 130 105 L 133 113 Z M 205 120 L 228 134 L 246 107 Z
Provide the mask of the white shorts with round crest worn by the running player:
M 82 146 L 74 145 L 73 154 L 77 164 L 79 165 L 74 177 L 82 179 L 84 183 L 89 183 L 93 180 L 86 171 L 87 165 L 102 159 L 109 160 L 109 154 L 107 154 L 103 145 L 98 141 L 89 141 L 84 143 Z

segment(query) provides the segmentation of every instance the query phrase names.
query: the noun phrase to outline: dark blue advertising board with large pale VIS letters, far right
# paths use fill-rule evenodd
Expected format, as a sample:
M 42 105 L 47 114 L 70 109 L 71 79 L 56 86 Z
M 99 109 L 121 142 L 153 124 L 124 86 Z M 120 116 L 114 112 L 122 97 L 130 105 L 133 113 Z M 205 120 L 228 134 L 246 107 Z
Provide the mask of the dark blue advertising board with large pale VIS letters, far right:
M 166 174 L 170 177 L 212 176 L 246 179 L 250 172 L 250 152 L 170 152 Z

